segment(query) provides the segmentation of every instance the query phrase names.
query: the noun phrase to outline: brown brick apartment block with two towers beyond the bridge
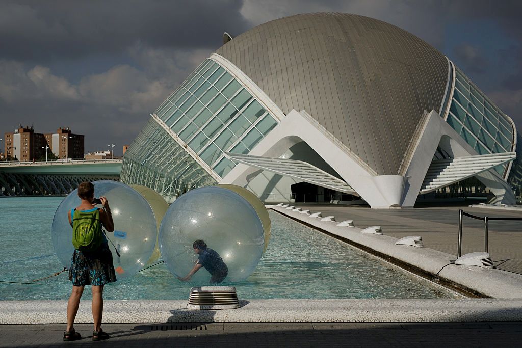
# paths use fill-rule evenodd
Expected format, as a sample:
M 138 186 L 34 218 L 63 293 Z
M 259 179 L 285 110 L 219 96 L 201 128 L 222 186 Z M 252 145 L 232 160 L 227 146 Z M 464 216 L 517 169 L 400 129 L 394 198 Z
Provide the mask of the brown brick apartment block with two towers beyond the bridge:
M 59 159 L 84 157 L 84 136 L 72 134 L 69 128 L 58 128 L 56 134 L 41 134 L 35 133 L 32 126 L 20 126 L 4 136 L 6 160 L 29 162 L 45 159 L 46 151 Z

